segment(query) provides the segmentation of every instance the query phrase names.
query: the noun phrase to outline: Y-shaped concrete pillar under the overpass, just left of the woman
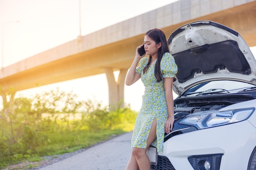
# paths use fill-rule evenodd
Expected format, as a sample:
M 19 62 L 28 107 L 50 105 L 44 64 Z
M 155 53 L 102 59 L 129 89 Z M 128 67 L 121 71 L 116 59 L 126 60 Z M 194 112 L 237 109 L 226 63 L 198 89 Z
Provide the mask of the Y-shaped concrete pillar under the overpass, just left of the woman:
M 112 68 L 104 69 L 108 79 L 109 108 L 115 110 L 118 107 L 124 107 L 124 82 L 128 69 L 119 70 L 118 80 L 115 81 Z

